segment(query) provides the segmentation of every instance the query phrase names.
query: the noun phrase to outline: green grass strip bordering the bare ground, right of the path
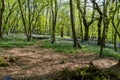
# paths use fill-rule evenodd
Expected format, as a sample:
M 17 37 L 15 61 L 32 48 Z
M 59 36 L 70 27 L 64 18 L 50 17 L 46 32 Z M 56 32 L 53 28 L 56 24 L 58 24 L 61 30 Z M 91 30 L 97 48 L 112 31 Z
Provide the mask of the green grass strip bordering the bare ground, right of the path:
M 80 51 L 84 51 L 87 53 L 95 53 L 99 55 L 100 53 L 100 47 L 99 46 L 92 46 L 92 45 L 82 45 L 82 49 L 74 48 L 72 44 L 64 43 L 64 42 L 56 42 L 55 44 L 51 44 L 50 41 L 45 40 L 42 47 L 44 48 L 52 48 L 57 52 L 62 53 L 76 53 Z M 120 59 L 120 53 L 114 51 L 113 49 L 104 48 L 103 50 L 103 57 L 113 57 L 116 59 Z

